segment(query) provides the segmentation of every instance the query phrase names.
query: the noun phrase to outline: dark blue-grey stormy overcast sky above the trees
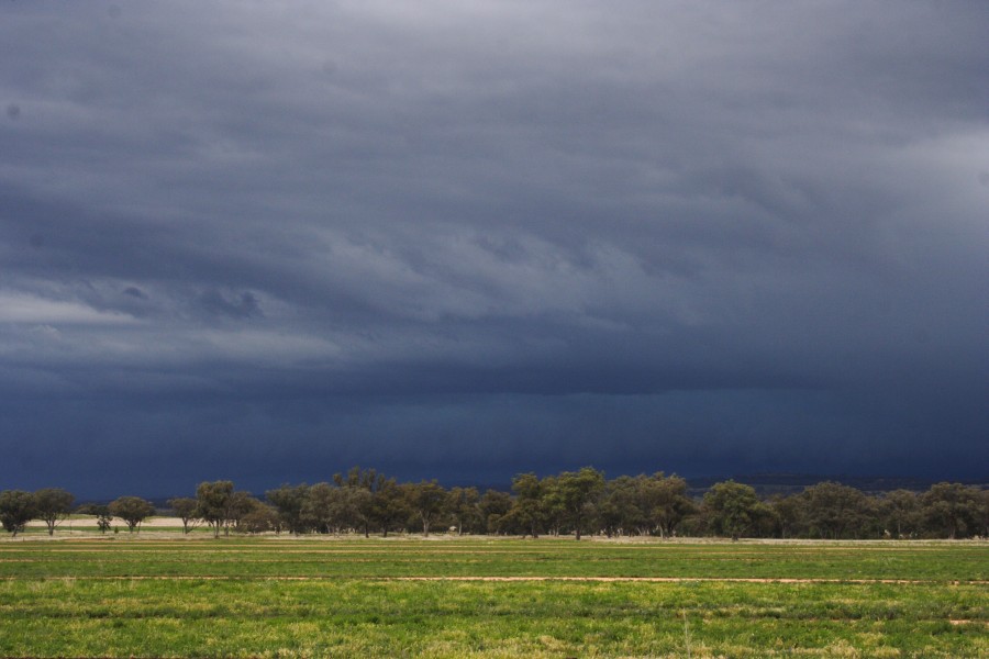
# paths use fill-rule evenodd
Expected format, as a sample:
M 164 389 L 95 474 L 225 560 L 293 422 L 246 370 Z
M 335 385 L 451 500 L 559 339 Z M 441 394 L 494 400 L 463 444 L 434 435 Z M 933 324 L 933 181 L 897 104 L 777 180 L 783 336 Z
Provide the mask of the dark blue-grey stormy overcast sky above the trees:
M 989 2 L 0 3 L 0 489 L 989 477 Z

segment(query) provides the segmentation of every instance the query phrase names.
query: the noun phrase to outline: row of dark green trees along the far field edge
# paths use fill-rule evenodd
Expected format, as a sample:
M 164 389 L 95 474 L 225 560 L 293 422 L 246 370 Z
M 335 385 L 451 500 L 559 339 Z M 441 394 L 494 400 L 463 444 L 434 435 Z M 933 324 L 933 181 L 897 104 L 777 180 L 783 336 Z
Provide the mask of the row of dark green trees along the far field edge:
M 70 514 L 96 517 L 103 533 L 113 520 L 130 532 L 156 513 L 138 496 L 108 505 L 75 506 L 59 488 L 0 492 L 0 522 L 16 535 L 42 520 L 49 535 Z M 232 481 L 200 483 L 195 496 L 167 502 L 182 532 L 209 526 L 221 533 L 458 535 L 687 536 L 758 538 L 969 538 L 989 537 L 989 490 L 942 482 L 925 492 L 894 490 L 869 495 L 836 482 L 759 499 L 755 489 L 729 480 L 701 499 L 673 474 L 620 476 L 585 467 L 540 478 L 520 473 L 511 492 L 442 487 L 436 480 L 399 483 L 374 469 L 354 467 L 332 482 L 284 484 L 258 499 Z

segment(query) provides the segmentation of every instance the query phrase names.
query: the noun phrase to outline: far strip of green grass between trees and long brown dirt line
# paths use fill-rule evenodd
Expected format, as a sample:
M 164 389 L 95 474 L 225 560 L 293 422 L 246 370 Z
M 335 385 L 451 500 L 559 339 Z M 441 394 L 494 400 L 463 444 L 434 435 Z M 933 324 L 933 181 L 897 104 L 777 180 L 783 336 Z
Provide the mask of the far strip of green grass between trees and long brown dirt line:
M 0 544 L 2 577 L 989 579 L 976 543 L 155 539 Z

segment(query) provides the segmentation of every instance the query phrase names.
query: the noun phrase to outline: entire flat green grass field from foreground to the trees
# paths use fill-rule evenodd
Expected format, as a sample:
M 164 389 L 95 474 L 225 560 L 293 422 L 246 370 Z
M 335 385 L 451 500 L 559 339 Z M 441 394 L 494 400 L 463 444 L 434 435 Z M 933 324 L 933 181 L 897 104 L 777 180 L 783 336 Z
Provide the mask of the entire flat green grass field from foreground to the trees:
M 978 543 L 142 535 L 0 543 L 0 656 L 989 656 Z

